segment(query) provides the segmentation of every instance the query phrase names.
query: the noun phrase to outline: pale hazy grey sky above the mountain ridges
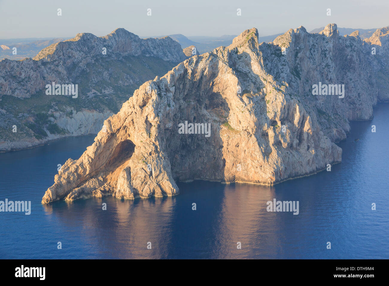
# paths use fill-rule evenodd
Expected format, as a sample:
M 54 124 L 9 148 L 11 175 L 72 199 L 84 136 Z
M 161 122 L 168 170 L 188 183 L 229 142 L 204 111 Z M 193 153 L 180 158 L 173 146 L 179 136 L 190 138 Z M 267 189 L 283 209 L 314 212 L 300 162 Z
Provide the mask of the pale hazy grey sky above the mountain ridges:
M 58 8 L 62 16 L 57 16 Z M 237 16 L 238 8 L 242 16 Z M 388 15 L 389 0 L 0 0 L 0 39 L 74 37 L 81 32 L 103 36 L 116 28 L 139 36 L 220 36 L 256 27 L 266 36 L 328 23 L 381 28 L 389 25 Z

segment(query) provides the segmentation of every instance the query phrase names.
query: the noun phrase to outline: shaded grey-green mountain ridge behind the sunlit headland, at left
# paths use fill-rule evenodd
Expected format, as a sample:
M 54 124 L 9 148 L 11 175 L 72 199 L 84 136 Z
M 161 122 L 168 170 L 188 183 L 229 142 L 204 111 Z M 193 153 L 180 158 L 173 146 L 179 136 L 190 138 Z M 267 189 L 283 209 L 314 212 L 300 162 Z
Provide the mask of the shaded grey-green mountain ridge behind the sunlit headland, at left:
M 33 59 L 0 61 L 0 151 L 97 133 L 143 82 L 185 60 L 169 37 L 140 39 L 122 28 L 52 44 Z M 78 95 L 47 95 L 46 85 L 77 84 Z M 12 132 L 12 126 L 17 132 Z

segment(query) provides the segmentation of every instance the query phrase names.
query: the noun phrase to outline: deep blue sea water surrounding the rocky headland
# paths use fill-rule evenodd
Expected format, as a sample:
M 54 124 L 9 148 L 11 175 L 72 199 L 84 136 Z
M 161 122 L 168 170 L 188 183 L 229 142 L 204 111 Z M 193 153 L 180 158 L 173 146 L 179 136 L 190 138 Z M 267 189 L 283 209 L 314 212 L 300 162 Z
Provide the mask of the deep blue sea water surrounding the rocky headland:
M 179 183 L 180 195 L 148 200 L 40 204 L 57 164 L 79 158 L 94 136 L 0 153 L 0 200 L 32 202 L 29 216 L 0 212 L 0 258 L 387 259 L 387 114 L 389 104 L 379 104 L 371 121 L 351 124 L 351 134 L 338 144 L 342 163 L 331 172 L 273 187 Z M 273 198 L 299 201 L 300 213 L 267 212 L 266 202 Z M 372 203 L 377 210 L 371 210 Z

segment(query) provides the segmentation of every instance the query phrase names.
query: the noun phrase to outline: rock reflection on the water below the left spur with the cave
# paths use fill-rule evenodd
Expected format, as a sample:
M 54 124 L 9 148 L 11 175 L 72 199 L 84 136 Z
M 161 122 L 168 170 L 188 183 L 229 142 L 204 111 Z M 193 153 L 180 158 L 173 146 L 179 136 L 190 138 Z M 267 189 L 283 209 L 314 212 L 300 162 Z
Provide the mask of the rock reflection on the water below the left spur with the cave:
M 107 210 L 103 210 L 103 203 Z M 98 256 L 163 258 L 171 240 L 166 230 L 172 227 L 174 204 L 174 198 L 130 201 L 107 197 L 57 202 L 42 208 L 50 220 L 54 216 L 68 230 L 81 230 L 82 243 L 94 247 Z M 151 250 L 147 250 L 148 242 Z

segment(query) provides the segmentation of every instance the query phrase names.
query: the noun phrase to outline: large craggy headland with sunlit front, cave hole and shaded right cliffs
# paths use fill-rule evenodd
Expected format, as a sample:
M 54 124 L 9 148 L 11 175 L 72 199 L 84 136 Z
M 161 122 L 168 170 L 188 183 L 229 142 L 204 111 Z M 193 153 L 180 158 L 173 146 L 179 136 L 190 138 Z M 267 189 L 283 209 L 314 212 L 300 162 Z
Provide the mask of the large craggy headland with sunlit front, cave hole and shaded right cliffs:
M 372 75 L 388 58 L 370 49 L 339 37 L 335 24 L 320 34 L 291 29 L 270 44 L 246 30 L 142 84 L 63 165 L 42 203 L 175 195 L 177 180 L 271 185 L 323 170 L 341 161 L 334 142 L 349 120 L 371 118 L 387 98 Z M 313 95 L 319 82 L 344 84 L 344 97 Z

